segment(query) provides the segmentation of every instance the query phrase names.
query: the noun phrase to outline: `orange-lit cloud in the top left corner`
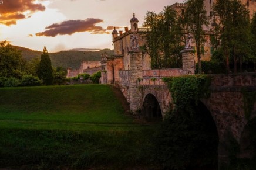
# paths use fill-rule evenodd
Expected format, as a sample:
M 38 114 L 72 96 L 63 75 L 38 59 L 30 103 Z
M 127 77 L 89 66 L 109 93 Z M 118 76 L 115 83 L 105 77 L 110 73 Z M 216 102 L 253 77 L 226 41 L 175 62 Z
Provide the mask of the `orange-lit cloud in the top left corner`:
M 36 0 L 8 0 L 1 5 L 0 24 L 16 24 L 16 20 L 28 18 L 36 11 L 44 11 L 45 6 L 35 4 Z

